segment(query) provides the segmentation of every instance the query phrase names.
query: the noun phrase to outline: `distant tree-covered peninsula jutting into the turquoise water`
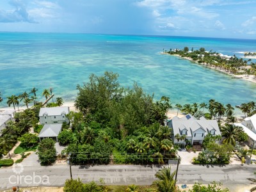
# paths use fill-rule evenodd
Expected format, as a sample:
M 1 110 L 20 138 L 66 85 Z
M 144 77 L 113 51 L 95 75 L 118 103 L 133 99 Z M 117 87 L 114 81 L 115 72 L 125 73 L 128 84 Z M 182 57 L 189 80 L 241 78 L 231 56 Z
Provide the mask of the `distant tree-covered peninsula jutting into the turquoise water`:
M 189 51 L 189 47 L 184 47 L 184 49 L 170 49 L 170 51 L 165 52 L 189 58 L 196 63 L 202 63 L 209 67 L 220 68 L 231 74 L 256 75 L 256 63 L 253 63 L 251 59 L 243 60 L 243 58 L 237 58 L 235 54 L 234 56 L 224 56 L 218 52 L 205 51 L 204 47 L 198 50 L 194 50 L 192 47 L 191 51 Z

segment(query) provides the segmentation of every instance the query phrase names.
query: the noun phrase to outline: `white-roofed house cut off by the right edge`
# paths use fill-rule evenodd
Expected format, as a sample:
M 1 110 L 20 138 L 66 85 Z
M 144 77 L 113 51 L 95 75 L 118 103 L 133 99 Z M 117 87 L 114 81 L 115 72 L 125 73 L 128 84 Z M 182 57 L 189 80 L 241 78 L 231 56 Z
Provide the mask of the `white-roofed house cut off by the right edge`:
M 248 145 L 253 147 L 253 143 L 256 142 L 256 115 L 248 116 L 240 124 L 236 123 L 234 125 L 243 128 L 244 132 L 248 134 Z

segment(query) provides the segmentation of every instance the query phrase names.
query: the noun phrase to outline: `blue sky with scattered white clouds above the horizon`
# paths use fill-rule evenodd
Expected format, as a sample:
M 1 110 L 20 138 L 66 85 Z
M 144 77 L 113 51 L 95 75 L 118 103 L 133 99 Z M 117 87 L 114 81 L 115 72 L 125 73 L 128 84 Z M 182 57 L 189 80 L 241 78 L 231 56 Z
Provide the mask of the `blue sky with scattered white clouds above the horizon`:
M 256 39 L 256 0 L 1 0 L 0 31 Z

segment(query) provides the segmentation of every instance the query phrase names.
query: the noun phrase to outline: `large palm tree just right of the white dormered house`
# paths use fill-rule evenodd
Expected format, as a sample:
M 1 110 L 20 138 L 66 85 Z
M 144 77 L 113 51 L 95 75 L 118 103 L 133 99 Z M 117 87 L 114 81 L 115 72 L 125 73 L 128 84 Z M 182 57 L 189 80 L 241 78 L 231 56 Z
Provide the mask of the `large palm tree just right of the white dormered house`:
M 236 145 L 236 141 L 239 140 L 239 135 L 244 132 L 242 127 L 236 125 L 225 124 L 225 127 L 221 127 L 221 136 L 225 139 L 223 143 Z

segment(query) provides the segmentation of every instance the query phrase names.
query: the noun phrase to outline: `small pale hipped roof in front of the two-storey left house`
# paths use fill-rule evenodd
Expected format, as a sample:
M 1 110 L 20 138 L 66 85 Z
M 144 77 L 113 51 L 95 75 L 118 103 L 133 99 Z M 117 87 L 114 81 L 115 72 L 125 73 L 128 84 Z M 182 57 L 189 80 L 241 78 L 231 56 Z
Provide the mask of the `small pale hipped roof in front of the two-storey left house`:
M 60 134 L 62 124 L 45 124 L 38 138 L 57 137 Z

